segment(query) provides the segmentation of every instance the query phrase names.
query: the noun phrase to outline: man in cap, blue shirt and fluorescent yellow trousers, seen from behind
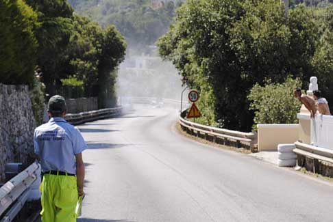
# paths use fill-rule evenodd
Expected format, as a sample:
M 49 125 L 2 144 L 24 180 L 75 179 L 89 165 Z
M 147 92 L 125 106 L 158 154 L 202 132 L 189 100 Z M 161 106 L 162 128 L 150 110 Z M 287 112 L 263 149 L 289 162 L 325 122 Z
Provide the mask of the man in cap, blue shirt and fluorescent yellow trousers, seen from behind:
M 76 221 L 78 197 L 84 195 L 84 162 L 87 148 L 79 130 L 64 120 L 66 102 L 62 96 L 49 100 L 51 119 L 36 128 L 35 152 L 42 166 L 42 221 Z

